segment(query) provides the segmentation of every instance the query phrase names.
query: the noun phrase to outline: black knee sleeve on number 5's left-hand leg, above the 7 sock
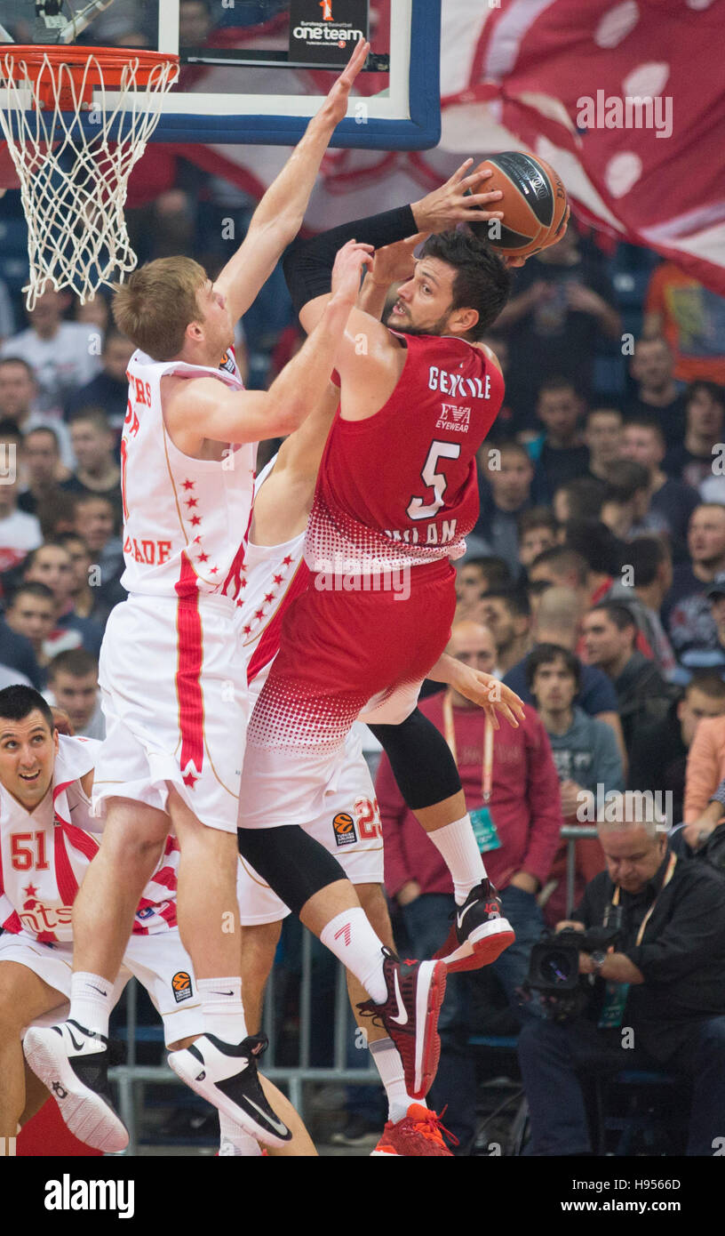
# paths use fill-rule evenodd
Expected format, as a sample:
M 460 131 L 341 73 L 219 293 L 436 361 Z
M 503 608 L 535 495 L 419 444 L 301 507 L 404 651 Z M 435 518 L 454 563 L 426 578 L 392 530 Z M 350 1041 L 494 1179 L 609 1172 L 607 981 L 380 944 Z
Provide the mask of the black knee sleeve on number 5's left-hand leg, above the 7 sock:
M 299 824 L 237 828 L 237 845 L 293 915 L 320 889 L 347 879 L 337 859 Z

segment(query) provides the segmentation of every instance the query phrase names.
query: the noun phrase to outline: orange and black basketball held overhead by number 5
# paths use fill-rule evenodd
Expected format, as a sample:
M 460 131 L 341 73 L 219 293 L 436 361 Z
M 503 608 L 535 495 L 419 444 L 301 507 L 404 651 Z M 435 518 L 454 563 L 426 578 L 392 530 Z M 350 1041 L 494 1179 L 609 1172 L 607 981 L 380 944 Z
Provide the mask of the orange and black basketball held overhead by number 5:
M 492 154 L 476 168 L 493 176 L 484 188 L 476 192 L 500 189 L 504 194 L 493 209 L 503 210 L 500 237 L 492 235 L 490 224 L 476 224 L 473 231 L 485 236 L 492 248 L 504 257 L 530 257 L 540 250 L 556 245 L 568 219 L 567 190 L 561 177 L 543 159 L 520 151 Z

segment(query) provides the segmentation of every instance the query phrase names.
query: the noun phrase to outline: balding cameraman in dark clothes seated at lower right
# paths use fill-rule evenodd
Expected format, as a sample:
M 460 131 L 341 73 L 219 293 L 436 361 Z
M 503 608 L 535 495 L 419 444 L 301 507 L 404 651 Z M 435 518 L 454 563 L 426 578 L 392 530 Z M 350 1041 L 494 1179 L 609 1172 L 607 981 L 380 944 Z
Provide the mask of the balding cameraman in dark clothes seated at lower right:
M 655 824 L 635 822 L 627 800 L 622 815 L 599 826 L 606 871 L 557 928 L 619 920 L 619 942 L 579 953 L 579 974 L 592 976 L 580 980 L 590 990 L 580 1014 L 529 1021 L 519 1039 L 530 1153 L 592 1153 L 582 1077 L 664 1067 L 692 1079 L 687 1153 L 711 1156 L 725 1130 L 725 886 L 706 864 L 677 859 Z M 562 1014 L 551 1000 L 548 1017 Z

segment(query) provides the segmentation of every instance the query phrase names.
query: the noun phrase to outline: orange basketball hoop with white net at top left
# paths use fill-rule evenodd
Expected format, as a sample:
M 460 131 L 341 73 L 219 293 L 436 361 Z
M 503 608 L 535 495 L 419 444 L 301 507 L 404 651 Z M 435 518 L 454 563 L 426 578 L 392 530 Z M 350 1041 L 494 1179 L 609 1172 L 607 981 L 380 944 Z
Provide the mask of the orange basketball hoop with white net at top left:
M 1 48 L 0 129 L 27 221 L 28 309 L 46 287 L 70 288 L 84 304 L 135 269 L 128 177 L 178 64 L 178 56 L 128 48 Z

